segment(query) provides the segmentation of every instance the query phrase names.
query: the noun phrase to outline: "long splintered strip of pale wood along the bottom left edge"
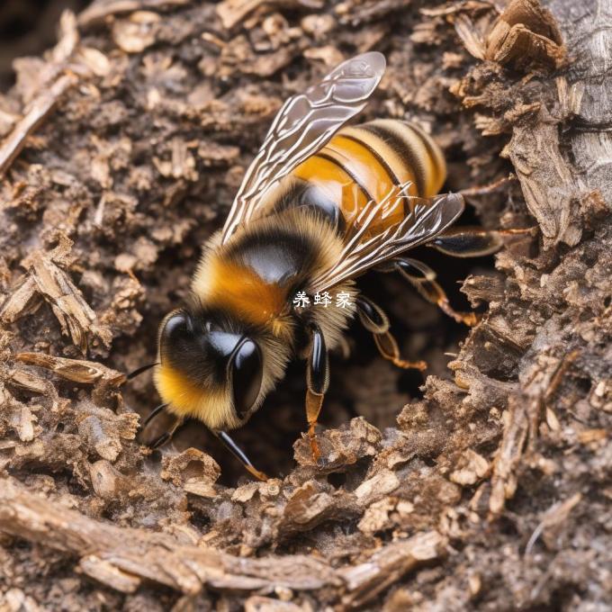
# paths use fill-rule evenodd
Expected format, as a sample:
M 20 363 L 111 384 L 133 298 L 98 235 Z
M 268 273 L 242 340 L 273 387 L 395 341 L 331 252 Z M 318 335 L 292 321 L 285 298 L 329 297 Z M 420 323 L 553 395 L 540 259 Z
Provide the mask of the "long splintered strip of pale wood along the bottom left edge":
M 122 592 L 142 580 L 195 595 L 206 584 L 220 590 L 278 587 L 317 590 L 335 586 L 345 603 L 363 605 L 406 572 L 436 560 L 444 539 L 436 532 L 383 547 L 367 563 L 338 572 L 313 557 L 287 555 L 237 559 L 207 547 L 179 545 L 170 536 L 113 527 L 32 495 L 23 485 L 0 480 L 0 530 L 80 557 L 88 576 Z

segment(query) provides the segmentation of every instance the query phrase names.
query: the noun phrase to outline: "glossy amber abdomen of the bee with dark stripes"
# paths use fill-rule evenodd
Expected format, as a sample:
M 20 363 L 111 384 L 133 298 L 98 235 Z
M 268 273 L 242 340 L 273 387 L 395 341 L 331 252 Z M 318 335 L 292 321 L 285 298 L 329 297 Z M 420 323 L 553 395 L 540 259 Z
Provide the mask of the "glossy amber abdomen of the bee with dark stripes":
M 369 200 L 381 202 L 407 181 L 410 195 L 435 195 L 446 179 L 446 164 L 423 130 L 405 121 L 381 119 L 339 130 L 292 174 L 327 193 L 351 225 Z M 372 229 L 389 227 L 404 214 L 403 202 L 392 199 L 384 219 Z

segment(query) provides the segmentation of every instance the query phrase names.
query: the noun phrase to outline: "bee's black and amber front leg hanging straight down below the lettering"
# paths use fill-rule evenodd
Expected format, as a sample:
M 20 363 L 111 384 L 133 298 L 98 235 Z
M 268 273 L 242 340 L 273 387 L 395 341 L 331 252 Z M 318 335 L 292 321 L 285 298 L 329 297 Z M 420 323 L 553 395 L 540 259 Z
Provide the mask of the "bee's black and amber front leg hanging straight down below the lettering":
M 311 324 L 311 354 L 306 366 L 306 386 L 308 437 L 311 440 L 312 457 L 315 461 L 319 461 L 320 450 L 317 444 L 316 428 L 323 398 L 329 387 L 329 357 L 325 338 L 315 323 Z

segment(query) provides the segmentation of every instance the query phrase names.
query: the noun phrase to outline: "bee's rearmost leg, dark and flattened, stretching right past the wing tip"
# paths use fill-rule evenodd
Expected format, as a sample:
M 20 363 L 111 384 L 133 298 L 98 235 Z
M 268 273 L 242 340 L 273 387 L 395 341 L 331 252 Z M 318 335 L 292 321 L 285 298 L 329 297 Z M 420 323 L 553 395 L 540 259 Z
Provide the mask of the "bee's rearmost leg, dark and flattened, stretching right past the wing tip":
M 438 234 L 428 242 L 428 247 L 453 257 L 482 257 L 499 251 L 504 237 L 534 234 L 535 229 L 453 228 Z

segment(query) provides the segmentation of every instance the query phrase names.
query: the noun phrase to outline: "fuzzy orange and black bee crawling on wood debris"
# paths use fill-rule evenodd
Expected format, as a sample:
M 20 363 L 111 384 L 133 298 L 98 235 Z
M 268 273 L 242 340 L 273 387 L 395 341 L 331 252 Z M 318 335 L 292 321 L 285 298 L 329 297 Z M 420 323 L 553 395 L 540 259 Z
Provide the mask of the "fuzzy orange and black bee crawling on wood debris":
M 249 473 L 266 479 L 228 432 L 261 407 L 290 360 L 302 358 L 308 437 L 319 460 L 328 354 L 351 320 L 373 334 L 385 359 L 426 367 L 402 359 L 387 316 L 359 293 L 356 278 L 367 270 L 397 271 L 446 314 L 473 323 L 473 315 L 452 309 L 434 271 L 404 254 L 428 244 L 459 257 L 485 255 L 500 247 L 499 233 L 449 229 L 464 198 L 437 195 L 445 159 L 419 126 L 392 119 L 346 125 L 384 69 L 378 52 L 350 58 L 276 115 L 223 229 L 203 247 L 190 298 L 161 322 L 151 366 L 163 403 L 145 426 L 162 411 L 175 426 L 152 446 L 184 419 L 198 419 Z M 343 295 L 345 306 L 302 308 L 295 299 L 312 303 L 330 292 Z

